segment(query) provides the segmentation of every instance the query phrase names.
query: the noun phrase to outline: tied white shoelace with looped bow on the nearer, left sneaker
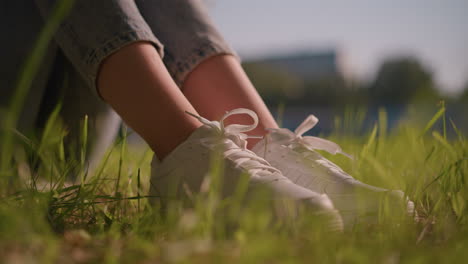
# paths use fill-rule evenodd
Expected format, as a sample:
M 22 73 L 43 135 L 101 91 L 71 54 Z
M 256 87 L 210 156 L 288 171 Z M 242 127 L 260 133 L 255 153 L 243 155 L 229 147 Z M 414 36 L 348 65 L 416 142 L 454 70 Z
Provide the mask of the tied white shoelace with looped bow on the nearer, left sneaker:
M 209 121 L 206 118 L 192 114 L 185 111 L 187 114 L 198 119 L 202 124 L 212 128 L 217 132 L 217 137 L 215 138 L 205 138 L 203 143 L 219 142 L 221 139 L 230 139 L 232 140 L 236 147 L 227 149 L 224 152 L 224 155 L 231 160 L 235 160 L 237 166 L 243 166 L 248 172 L 252 175 L 256 175 L 262 170 L 269 172 L 279 172 L 278 169 L 273 168 L 266 160 L 259 157 L 254 152 L 247 149 L 247 139 L 248 138 L 262 138 L 261 136 L 249 136 L 243 132 L 248 132 L 255 129 L 258 125 L 257 114 L 249 109 L 238 108 L 232 111 L 227 112 L 221 120 L 218 121 Z M 231 124 L 228 126 L 224 125 L 224 120 L 232 115 L 246 114 L 253 119 L 253 124 L 251 125 L 241 125 L 241 124 Z

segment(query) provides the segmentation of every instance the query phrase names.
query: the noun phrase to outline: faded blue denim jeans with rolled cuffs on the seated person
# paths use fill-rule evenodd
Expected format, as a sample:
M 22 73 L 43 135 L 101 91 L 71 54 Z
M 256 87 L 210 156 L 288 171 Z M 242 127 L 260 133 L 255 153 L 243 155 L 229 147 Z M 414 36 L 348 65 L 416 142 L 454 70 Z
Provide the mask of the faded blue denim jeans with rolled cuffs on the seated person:
M 0 4 L 4 36 L 0 48 L 0 108 L 13 93 L 22 60 L 56 2 L 15 0 Z M 75 0 L 31 87 L 20 130 L 40 126 L 60 99 L 62 117 L 72 135 L 86 114 L 91 135 L 94 132 L 96 141 L 109 144 L 120 119 L 97 94 L 99 67 L 110 54 L 138 41 L 154 45 L 179 86 L 203 60 L 217 54 L 235 55 L 207 16 L 202 0 Z M 64 80 L 68 80 L 66 85 Z

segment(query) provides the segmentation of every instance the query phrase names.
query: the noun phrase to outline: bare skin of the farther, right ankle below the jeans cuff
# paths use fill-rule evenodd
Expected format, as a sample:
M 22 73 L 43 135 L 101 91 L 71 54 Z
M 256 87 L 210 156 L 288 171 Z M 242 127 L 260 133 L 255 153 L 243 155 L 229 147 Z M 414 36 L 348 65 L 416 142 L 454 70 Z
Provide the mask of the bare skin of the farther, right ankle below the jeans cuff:
M 248 108 L 257 113 L 259 125 L 249 135 L 263 136 L 266 128 L 278 128 L 239 61 L 232 55 L 218 55 L 200 63 L 187 76 L 182 91 L 201 116 L 219 120 L 226 111 Z M 252 120 L 245 115 L 229 117 L 226 123 L 249 124 Z M 249 139 L 252 148 L 259 139 Z

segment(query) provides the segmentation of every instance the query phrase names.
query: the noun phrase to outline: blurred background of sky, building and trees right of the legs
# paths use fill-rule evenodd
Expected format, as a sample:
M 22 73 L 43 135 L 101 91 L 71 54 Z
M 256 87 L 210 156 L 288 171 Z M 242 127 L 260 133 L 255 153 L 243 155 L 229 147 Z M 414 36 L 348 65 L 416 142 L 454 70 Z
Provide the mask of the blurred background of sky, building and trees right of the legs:
M 444 101 L 468 134 L 468 1 L 205 1 L 284 126 L 361 133 L 385 109 L 394 129 Z

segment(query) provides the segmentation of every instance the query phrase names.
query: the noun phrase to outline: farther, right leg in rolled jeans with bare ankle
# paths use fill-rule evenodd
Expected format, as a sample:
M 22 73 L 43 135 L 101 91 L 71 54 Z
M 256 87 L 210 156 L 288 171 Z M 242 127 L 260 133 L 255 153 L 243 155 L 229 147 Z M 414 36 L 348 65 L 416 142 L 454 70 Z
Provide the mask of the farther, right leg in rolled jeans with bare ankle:
M 197 0 L 135 1 L 148 26 L 164 43 L 164 64 L 176 84 L 200 112 L 219 120 L 228 110 L 245 107 L 260 116 L 260 126 L 277 127 L 262 99 L 242 70 L 235 52 Z M 180 18 L 175 23 L 174 19 Z M 228 55 L 229 54 L 229 55 Z M 251 122 L 247 116 L 231 122 Z M 252 146 L 255 140 L 250 140 Z

